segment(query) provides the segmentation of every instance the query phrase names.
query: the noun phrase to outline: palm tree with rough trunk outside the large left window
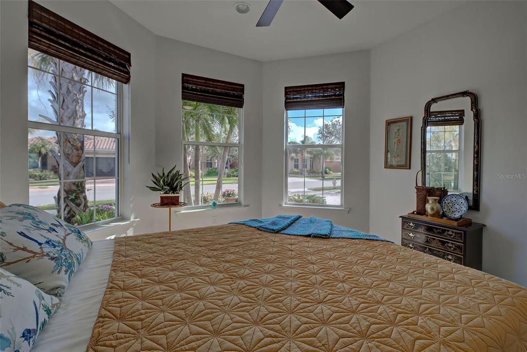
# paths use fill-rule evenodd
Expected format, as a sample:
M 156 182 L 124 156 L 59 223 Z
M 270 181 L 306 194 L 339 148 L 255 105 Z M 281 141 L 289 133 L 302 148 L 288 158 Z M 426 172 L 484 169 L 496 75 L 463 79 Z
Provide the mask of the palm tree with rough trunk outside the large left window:
M 64 126 L 85 128 L 84 96 L 87 92 L 85 84 L 89 81 L 86 78 L 89 71 L 32 50 L 28 53 L 28 58 L 33 67 L 52 73 L 51 80 L 48 82 L 51 86 L 51 90 L 48 91 L 50 99 L 47 101 L 53 110 L 54 119 L 45 115 L 40 115 L 40 118 L 53 124 L 58 122 Z M 37 82 L 47 77 L 41 71 L 34 72 L 36 74 L 33 78 Z M 58 77 L 59 74 L 61 78 Z M 101 87 L 109 87 L 114 84 L 114 81 L 94 73 L 92 84 L 94 83 Z M 56 150 L 51 149 L 50 152 L 58 167 L 62 163 L 62 173 L 58 177 L 62 181 L 81 180 L 60 182 L 56 197 L 57 212 L 60 214 L 61 209 L 64 208 L 64 220 L 74 222 L 77 214 L 82 214 L 88 209 L 86 182 L 84 181 L 84 136 L 66 132 L 56 132 L 56 135 L 62 158 Z M 64 191 L 64 198 L 61 197 L 62 191 Z

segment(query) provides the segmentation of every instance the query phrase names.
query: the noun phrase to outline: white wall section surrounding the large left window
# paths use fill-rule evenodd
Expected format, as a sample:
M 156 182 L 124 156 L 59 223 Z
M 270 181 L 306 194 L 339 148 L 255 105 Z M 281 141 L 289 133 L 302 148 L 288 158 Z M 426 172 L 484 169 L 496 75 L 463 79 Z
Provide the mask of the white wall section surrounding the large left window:
M 131 138 L 123 152 L 122 212 L 126 219 L 140 220 L 93 237 L 149 232 L 155 210 L 150 208 L 151 192 L 144 184 L 149 182 L 149 173 L 145 170 L 152 170 L 155 165 L 155 126 L 151 120 L 155 110 L 155 36 L 110 2 L 41 0 L 38 3 L 132 54 Z M 27 2 L 2 1 L 0 4 L 0 199 L 5 203 L 27 203 Z M 128 124 L 124 131 L 128 134 Z

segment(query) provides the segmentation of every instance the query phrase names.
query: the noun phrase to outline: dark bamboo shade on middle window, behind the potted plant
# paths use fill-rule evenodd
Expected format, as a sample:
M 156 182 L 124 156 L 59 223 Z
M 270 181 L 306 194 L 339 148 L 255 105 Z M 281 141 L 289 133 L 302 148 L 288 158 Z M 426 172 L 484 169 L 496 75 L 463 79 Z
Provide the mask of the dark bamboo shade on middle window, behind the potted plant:
M 223 106 L 243 107 L 245 86 L 183 73 L 181 99 Z

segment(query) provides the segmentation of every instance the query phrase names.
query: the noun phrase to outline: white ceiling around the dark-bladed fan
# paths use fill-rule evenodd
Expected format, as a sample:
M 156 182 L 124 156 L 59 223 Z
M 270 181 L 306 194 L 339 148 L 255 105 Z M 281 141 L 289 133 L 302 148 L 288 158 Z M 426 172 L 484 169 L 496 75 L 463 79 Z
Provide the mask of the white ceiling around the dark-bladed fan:
M 256 27 L 267 0 L 111 0 L 153 33 L 258 61 L 333 54 L 375 47 L 450 11 L 460 2 L 350 0 L 337 19 L 314 0 L 285 0 L 270 27 Z

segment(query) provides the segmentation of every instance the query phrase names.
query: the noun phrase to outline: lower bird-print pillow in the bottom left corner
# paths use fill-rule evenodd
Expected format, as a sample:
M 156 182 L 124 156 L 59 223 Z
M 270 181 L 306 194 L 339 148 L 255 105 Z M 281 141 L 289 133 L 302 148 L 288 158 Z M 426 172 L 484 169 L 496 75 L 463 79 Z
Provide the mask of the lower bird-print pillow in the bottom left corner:
M 59 305 L 57 297 L 0 268 L 0 351 L 29 351 Z

